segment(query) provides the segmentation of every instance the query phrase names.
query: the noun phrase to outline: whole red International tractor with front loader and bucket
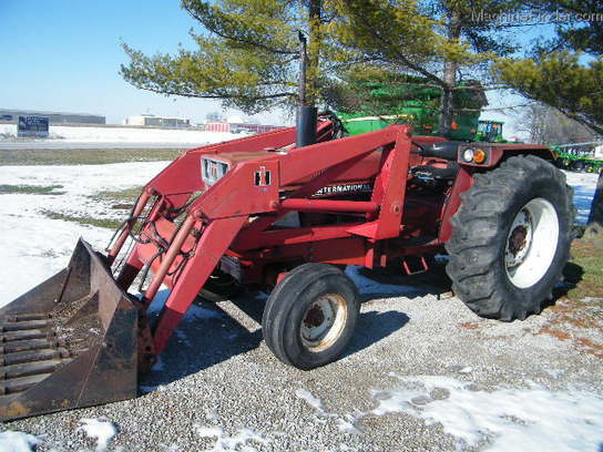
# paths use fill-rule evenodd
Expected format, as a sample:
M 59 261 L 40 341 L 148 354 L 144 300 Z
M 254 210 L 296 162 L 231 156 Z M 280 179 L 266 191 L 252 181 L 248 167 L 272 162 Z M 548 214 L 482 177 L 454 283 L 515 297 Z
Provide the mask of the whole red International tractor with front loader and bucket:
M 574 208 L 549 148 L 407 125 L 338 137 L 329 116 L 316 133 L 304 147 L 292 127 L 183 153 L 146 184 L 106 255 L 80 240 L 68 268 L 1 309 L 0 418 L 135 397 L 204 287 L 269 291 L 264 338 L 299 369 L 336 360 L 354 335 L 346 265 L 426 269 L 448 253 L 453 291 L 504 321 L 552 297 Z M 162 285 L 171 292 L 150 321 Z

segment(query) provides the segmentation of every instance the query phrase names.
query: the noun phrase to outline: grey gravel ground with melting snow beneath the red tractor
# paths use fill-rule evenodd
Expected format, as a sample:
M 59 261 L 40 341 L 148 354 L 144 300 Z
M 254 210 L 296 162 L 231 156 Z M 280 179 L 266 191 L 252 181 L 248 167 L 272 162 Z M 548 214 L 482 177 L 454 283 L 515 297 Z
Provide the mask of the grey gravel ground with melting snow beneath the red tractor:
M 114 424 L 112 451 L 603 448 L 602 356 L 587 347 L 601 329 L 560 326 L 551 308 L 512 323 L 480 319 L 447 294 L 441 269 L 348 273 L 365 302 L 333 364 L 306 372 L 277 361 L 257 322 L 264 301 L 248 294 L 192 309 L 142 397 L 4 428 L 37 435 L 39 451 L 102 450 L 80 429 L 90 418 Z M 593 309 L 601 318 L 601 300 Z

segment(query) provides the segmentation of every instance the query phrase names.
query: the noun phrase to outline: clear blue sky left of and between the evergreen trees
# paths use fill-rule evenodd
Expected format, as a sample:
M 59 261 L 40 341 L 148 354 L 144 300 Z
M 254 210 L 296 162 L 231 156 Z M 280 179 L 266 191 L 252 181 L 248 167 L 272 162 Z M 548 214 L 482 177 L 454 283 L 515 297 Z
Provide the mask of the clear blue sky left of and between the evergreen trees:
M 218 102 L 136 90 L 119 74 L 127 61 L 122 40 L 145 53 L 174 52 L 178 43 L 193 44 L 195 25 L 180 0 L 0 0 L 0 107 L 96 113 L 109 123 L 141 113 L 202 121 L 221 110 Z M 490 101 L 491 107 L 518 103 L 498 94 Z M 278 112 L 259 120 L 283 121 Z

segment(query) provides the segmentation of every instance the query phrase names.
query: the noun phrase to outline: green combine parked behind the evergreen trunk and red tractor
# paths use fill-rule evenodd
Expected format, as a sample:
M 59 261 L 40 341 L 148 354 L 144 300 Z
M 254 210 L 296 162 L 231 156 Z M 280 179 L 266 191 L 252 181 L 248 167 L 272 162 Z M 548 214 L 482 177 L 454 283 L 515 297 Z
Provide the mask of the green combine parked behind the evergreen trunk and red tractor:
M 366 82 L 366 93 L 354 111 L 338 110 L 337 116 L 349 135 L 377 131 L 394 123 L 412 124 L 418 135 L 442 136 L 439 131 L 441 90 L 426 86 L 427 79 L 408 75 L 405 85 Z M 457 114 L 452 116 L 449 140 L 503 143 L 500 121 L 480 121 L 481 109 L 488 104 L 477 81 L 459 83 L 453 96 Z

